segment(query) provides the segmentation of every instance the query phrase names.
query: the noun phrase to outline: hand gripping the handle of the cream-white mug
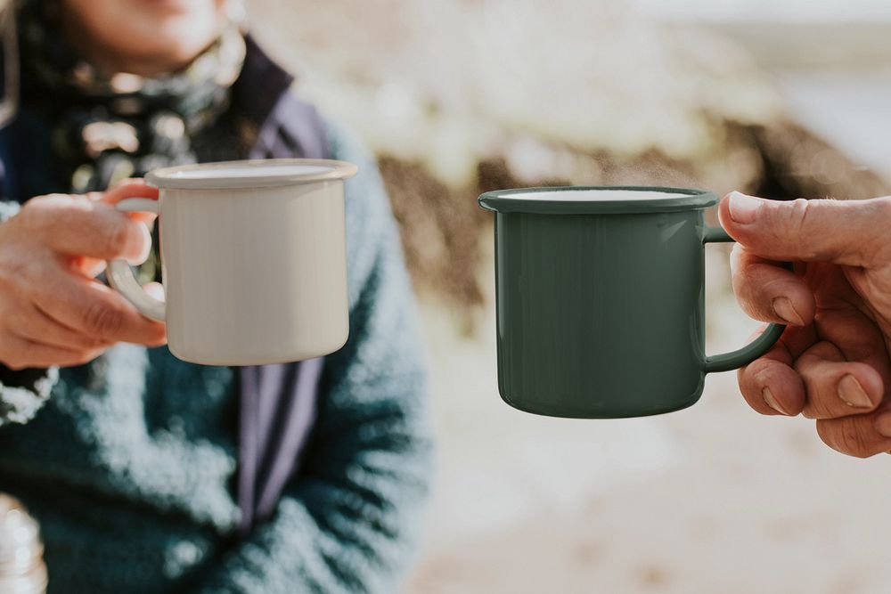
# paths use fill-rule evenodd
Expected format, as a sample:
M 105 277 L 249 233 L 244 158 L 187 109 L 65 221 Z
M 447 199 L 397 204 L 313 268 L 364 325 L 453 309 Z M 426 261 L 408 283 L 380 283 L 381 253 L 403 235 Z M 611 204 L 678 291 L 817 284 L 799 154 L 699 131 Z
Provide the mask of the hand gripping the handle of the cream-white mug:
M 13 370 L 77 365 L 117 342 L 164 344 L 151 321 L 94 277 L 106 259 L 142 262 L 149 233 L 113 205 L 156 197 L 143 183 L 89 196 L 30 199 L 0 224 L 0 362 Z

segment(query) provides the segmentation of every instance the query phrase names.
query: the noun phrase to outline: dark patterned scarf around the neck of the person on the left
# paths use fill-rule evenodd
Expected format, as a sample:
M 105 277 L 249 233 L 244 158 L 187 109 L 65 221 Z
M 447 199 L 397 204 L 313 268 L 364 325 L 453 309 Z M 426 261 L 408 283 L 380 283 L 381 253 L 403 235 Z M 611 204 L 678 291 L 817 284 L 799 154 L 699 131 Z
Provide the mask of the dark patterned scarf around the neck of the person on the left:
M 227 109 L 245 55 L 230 23 L 178 72 L 108 73 L 66 41 L 55 2 L 25 0 L 18 24 L 23 97 L 53 123 L 55 173 L 78 194 L 195 162 L 196 138 Z

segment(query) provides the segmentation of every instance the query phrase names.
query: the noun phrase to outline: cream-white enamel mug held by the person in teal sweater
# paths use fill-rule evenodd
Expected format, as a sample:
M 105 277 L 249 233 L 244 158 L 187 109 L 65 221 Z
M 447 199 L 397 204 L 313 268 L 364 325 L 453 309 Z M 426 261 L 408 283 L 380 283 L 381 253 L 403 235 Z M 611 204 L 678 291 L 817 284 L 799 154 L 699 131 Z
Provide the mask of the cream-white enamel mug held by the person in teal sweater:
M 344 180 L 352 163 L 267 159 L 156 169 L 165 300 L 124 260 L 108 279 L 143 315 L 167 322 L 168 347 L 206 365 L 261 365 L 331 354 L 347 341 Z

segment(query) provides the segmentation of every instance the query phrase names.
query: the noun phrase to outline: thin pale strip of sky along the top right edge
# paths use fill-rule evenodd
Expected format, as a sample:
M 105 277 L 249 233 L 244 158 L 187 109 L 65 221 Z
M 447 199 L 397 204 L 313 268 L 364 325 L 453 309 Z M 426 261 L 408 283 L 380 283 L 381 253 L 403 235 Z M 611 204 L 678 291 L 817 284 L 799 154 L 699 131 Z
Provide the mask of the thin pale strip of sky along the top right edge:
M 632 0 L 631 4 L 678 20 L 891 21 L 891 3 L 884 0 Z

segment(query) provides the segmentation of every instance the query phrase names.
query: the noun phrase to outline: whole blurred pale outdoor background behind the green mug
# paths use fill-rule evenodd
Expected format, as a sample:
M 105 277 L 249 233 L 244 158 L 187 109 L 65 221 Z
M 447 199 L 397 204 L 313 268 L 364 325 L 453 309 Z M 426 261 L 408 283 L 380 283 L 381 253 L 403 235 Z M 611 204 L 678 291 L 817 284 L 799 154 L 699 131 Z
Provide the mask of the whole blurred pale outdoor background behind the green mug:
M 440 440 L 407 594 L 891 591 L 887 457 L 702 401 L 546 419 L 497 394 L 492 221 L 552 183 L 888 193 L 891 4 L 872 0 L 252 0 L 298 91 L 378 154 L 421 300 Z M 707 252 L 710 353 L 756 323 Z

